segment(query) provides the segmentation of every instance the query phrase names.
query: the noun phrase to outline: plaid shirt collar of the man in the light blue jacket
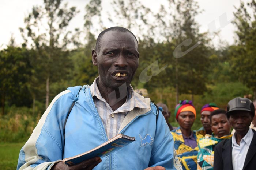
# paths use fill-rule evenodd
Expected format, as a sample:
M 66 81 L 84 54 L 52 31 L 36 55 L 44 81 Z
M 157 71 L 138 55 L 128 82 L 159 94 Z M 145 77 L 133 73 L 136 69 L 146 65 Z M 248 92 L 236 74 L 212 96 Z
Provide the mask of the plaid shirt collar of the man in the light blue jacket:
M 95 78 L 93 81 L 93 84 L 90 86 L 91 95 L 94 97 L 96 96 L 99 100 L 102 100 L 103 102 L 106 102 L 106 100 L 101 96 L 101 93 L 99 92 L 99 88 L 97 86 L 99 77 Z M 117 110 L 114 112 L 121 112 L 121 111 L 131 111 L 134 107 L 137 108 L 150 108 L 150 102 L 147 102 L 145 98 L 138 93 L 136 93 L 131 84 L 129 84 L 127 93 L 127 99 L 126 102 Z M 113 113 L 114 113 L 113 112 Z

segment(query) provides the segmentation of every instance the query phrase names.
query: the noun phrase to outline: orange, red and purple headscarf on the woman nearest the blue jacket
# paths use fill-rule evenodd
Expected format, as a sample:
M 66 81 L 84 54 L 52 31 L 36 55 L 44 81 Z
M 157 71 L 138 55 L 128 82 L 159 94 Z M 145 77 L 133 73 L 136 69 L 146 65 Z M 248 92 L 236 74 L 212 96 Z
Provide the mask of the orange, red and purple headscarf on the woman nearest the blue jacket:
M 179 104 L 177 104 L 175 107 L 175 111 L 174 111 L 175 118 L 178 119 L 179 114 L 184 111 L 191 111 L 196 118 L 196 109 L 192 104 L 192 101 L 180 100 Z

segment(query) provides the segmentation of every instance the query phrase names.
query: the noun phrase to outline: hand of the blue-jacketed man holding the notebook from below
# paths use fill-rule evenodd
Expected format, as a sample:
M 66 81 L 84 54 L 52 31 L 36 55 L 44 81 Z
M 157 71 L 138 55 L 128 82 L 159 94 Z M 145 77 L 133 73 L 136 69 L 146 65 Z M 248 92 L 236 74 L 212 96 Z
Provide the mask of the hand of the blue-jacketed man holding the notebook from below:
M 61 161 L 61 162 L 55 163 L 51 169 L 52 170 L 92 170 L 100 162 L 101 162 L 100 157 L 87 159 L 81 163 L 78 163 L 76 165 L 71 165 L 71 166 L 68 166 Z

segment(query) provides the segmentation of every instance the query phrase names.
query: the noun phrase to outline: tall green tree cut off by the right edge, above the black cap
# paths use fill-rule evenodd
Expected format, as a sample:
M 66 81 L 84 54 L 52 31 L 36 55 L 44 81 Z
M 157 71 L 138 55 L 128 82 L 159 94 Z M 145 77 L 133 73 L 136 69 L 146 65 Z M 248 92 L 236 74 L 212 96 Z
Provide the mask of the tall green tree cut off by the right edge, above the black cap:
M 243 84 L 251 88 L 256 98 L 256 2 L 252 0 L 234 12 L 237 41 L 235 46 L 230 47 L 230 63 L 234 74 Z

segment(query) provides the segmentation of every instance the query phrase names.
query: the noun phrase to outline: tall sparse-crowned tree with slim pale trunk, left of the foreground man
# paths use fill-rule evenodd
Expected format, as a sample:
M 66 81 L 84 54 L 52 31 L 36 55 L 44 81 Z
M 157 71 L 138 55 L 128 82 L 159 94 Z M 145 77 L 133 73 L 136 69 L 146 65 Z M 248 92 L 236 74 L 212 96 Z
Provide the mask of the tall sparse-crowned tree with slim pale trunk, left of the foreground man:
M 66 75 L 68 55 L 62 50 L 74 38 L 66 28 L 78 13 L 76 7 L 68 8 L 67 4 L 61 6 L 61 2 L 62 0 L 44 0 L 43 6 L 34 6 L 24 20 L 26 27 L 20 28 L 25 44 L 36 51 L 36 67 L 43 70 L 40 74 L 46 82 L 46 108 L 49 105 L 50 83 L 57 82 Z

